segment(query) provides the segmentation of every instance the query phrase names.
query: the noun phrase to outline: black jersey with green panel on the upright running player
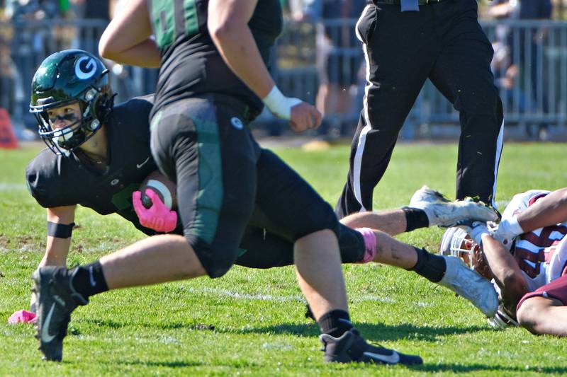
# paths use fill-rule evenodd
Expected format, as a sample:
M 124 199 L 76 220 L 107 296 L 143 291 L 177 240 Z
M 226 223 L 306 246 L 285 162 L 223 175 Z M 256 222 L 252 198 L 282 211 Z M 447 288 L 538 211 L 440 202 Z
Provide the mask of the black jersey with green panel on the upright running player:
M 148 0 L 147 4 L 162 58 L 152 116 L 172 101 L 199 93 L 232 95 L 252 112 L 262 110 L 262 100 L 232 73 L 210 39 L 208 0 Z M 248 25 L 269 67 L 271 47 L 283 25 L 279 0 L 258 0 Z

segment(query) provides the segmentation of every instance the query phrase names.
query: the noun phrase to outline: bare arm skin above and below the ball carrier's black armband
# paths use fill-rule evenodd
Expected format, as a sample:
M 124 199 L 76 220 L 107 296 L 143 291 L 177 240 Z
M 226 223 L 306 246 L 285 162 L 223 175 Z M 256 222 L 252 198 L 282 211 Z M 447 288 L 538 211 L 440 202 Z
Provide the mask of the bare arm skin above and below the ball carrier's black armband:
M 72 224 L 75 218 L 76 206 L 53 207 L 47 209 L 47 221 L 54 224 Z M 60 238 L 47 234 L 47 245 L 45 255 L 39 267 L 47 265 L 64 266 L 67 265 L 67 255 L 71 246 L 71 236 Z

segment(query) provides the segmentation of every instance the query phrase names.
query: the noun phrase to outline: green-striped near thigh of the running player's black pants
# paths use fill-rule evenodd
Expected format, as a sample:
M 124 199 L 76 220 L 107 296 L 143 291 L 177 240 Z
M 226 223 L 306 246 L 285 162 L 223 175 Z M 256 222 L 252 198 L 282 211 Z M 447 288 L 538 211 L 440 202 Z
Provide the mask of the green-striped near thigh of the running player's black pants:
M 257 183 L 259 149 L 247 127 L 235 126 L 245 122 L 245 105 L 231 101 L 186 98 L 152 119 L 152 156 L 176 182 L 184 236 L 213 278 L 239 255 Z

